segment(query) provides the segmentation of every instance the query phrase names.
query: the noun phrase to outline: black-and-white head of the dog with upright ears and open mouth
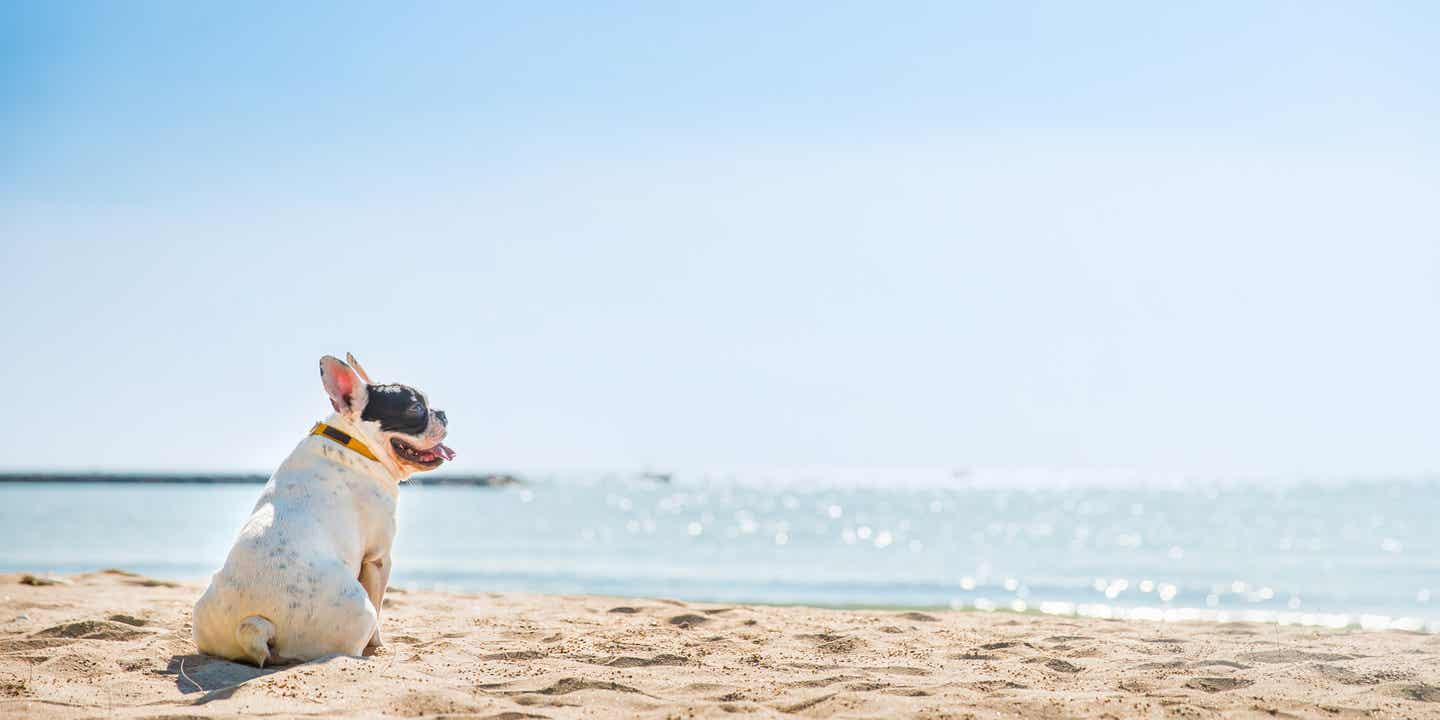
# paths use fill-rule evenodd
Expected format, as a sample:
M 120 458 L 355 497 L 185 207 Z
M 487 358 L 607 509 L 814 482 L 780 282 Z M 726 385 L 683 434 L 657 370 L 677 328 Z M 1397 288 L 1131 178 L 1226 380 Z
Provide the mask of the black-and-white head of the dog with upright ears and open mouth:
M 441 442 L 449 425 L 445 410 L 432 408 L 425 393 L 408 384 L 372 384 L 354 356 L 346 359 L 350 364 L 321 357 L 320 379 L 330 405 L 361 431 L 373 452 L 387 455 L 405 475 L 455 458 Z

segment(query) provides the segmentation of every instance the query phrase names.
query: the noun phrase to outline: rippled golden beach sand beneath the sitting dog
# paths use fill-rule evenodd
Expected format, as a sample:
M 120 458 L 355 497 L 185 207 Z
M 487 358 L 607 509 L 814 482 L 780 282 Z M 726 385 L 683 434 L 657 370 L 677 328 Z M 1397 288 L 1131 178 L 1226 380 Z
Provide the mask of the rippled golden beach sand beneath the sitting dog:
M 199 585 L 0 576 L 0 717 L 1440 717 L 1440 636 L 393 592 L 369 658 L 197 655 Z

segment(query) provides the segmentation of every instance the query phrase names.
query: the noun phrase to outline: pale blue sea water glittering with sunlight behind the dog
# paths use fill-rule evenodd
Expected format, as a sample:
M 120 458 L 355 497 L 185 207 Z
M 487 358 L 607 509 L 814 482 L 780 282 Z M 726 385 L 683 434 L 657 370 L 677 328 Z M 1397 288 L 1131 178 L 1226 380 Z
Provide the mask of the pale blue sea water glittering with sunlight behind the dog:
M 406 487 L 393 580 L 1440 631 L 1436 480 L 899 485 L 755 475 Z M 0 570 L 203 577 L 258 492 L 0 485 Z

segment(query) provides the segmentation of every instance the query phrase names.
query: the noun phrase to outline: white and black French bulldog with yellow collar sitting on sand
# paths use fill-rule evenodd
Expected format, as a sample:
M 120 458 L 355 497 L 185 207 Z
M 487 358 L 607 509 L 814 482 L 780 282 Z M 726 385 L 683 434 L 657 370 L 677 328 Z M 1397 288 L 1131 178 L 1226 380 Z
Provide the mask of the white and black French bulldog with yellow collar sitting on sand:
M 346 359 L 320 359 L 334 415 L 271 475 L 194 603 L 204 654 L 265 667 L 380 645 L 399 484 L 455 454 L 425 393 L 370 384 Z

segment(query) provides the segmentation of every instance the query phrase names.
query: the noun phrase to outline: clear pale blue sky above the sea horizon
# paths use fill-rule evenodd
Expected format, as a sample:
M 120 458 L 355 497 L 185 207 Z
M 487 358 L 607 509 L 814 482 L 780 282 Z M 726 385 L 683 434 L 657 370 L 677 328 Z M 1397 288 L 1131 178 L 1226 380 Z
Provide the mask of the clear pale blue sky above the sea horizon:
M 0 4 L 0 467 L 1440 468 L 1440 6 L 684 6 Z

